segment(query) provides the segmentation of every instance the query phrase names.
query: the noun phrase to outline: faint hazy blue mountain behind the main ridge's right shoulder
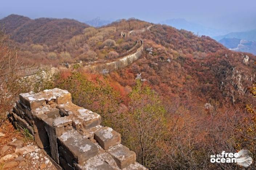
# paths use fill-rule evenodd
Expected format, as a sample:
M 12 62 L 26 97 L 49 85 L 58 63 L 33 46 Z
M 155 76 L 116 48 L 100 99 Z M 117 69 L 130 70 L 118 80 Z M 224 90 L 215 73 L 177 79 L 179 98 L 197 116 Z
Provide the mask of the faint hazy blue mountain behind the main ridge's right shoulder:
M 206 27 L 206 26 L 196 24 L 193 22 L 189 22 L 183 18 L 162 21 L 162 22 L 160 22 L 160 24 L 170 25 L 177 29 L 185 29 L 185 30 L 191 31 L 195 34 L 208 35 L 210 37 L 228 33 L 227 31 L 224 31 L 224 30 L 214 29 L 214 28 Z

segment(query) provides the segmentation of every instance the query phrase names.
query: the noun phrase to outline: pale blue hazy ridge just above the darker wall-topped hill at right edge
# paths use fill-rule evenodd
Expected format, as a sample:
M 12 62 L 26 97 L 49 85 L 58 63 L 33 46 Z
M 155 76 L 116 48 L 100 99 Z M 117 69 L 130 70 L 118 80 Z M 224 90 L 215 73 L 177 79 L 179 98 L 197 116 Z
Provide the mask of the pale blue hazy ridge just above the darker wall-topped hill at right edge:
M 217 41 L 223 38 L 238 38 L 238 39 L 246 39 L 248 41 L 256 41 L 256 29 L 251 31 L 229 33 L 226 35 L 221 35 L 213 38 L 216 39 Z

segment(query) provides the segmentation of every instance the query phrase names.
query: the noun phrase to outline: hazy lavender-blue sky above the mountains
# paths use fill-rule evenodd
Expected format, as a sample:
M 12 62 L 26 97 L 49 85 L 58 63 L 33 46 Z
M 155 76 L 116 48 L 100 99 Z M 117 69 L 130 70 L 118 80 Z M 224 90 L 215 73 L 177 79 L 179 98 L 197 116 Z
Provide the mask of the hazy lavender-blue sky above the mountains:
M 1 0 L 0 18 L 20 14 L 30 18 L 135 17 L 159 23 L 184 18 L 205 26 L 244 31 L 256 29 L 256 0 Z

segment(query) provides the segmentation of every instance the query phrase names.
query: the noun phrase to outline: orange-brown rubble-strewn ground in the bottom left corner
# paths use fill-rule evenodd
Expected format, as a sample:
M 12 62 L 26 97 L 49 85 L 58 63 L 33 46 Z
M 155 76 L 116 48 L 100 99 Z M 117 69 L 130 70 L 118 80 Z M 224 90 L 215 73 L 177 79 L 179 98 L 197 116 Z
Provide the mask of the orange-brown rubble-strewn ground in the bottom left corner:
M 57 170 L 45 151 L 10 123 L 0 127 L 0 170 Z

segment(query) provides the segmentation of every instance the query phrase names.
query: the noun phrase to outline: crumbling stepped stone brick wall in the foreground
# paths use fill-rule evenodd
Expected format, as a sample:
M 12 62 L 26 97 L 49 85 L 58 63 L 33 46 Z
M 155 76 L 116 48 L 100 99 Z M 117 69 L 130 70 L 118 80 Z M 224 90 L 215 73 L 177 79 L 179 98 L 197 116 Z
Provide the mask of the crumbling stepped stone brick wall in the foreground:
M 65 170 L 146 169 L 121 144 L 118 132 L 100 125 L 97 113 L 74 105 L 66 90 L 20 94 L 9 119 L 17 128 L 28 129 L 38 147 Z

